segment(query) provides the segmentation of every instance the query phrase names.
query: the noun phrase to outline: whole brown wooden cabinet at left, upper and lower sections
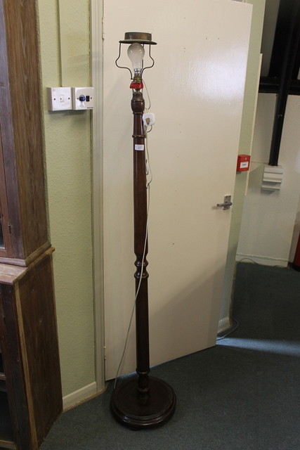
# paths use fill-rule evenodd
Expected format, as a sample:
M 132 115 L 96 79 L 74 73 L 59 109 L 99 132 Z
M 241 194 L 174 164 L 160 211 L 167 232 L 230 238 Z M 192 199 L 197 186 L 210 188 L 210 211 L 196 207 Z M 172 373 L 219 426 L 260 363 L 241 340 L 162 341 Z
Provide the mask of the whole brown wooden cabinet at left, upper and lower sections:
M 35 0 L 0 0 L 0 448 L 37 450 L 62 411 Z

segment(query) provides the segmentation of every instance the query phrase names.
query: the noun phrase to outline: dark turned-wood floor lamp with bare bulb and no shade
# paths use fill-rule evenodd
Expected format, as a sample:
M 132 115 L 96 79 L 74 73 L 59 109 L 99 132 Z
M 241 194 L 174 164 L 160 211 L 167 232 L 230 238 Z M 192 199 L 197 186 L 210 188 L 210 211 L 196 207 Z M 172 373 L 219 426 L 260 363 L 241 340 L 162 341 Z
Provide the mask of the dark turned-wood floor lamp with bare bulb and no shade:
M 150 33 L 126 32 L 121 45 L 129 44 L 128 56 L 133 66 L 131 72 L 133 112 L 133 210 L 134 210 L 134 253 L 136 255 L 136 374 L 118 383 L 112 392 L 110 408 L 119 422 L 133 430 L 152 428 L 162 425 L 173 415 L 176 408 L 174 390 L 163 380 L 150 377 L 149 358 L 149 314 L 148 314 L 148 205 L 145 161 L 145 125 L 143 113 L 143 58 L 145 46 L 149 48 L 151 68 L 154 60 L 151 56 L 152 41 Z

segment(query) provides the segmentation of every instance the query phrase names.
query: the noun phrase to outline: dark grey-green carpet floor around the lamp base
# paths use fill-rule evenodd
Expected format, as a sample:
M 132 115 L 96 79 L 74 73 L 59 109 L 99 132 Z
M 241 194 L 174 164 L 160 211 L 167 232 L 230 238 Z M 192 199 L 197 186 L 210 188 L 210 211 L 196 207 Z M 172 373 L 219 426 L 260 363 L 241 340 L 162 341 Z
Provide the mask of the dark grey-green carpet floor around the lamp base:
M 173 418 L 132 431 L 110 414 L 112 383 L 58 418 L 41 450 L 300 450 L 300 274 L 240 263 L 216 347 L 152 368 L 175 390 Z

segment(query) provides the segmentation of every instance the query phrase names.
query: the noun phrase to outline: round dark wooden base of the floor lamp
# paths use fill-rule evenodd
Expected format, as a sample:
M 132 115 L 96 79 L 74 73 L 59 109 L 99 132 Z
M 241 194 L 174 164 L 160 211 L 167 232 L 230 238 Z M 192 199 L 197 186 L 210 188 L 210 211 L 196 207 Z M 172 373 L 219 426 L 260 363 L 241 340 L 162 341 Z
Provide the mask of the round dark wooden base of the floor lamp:
M 120 383 L 112 393 L 110 408 L 113 416 L 132 430 L 153 428 L 167 422 L 176 409 L 174 390 L 158 378 L 149 378 L 146 399 L 138 398 L 136 377 Z

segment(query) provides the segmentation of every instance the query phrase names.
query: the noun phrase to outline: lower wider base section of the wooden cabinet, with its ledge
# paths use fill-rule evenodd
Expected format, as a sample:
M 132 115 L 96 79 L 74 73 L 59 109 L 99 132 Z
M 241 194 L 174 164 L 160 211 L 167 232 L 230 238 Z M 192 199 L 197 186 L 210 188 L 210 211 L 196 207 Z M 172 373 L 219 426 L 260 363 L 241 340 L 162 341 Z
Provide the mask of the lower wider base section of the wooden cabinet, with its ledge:
M 62 410 L 52 249 L 0 264 L 0 448 L 35 450 Z

